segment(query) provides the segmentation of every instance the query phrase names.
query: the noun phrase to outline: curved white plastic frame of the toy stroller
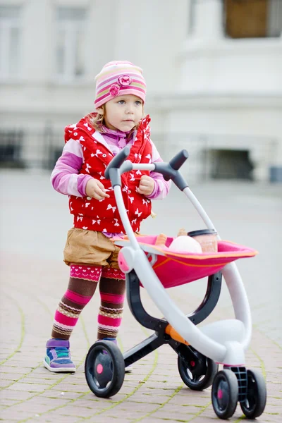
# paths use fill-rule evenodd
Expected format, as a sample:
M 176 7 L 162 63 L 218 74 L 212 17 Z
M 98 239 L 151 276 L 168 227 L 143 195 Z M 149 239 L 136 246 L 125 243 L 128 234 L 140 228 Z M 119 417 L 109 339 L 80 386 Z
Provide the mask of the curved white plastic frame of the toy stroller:
M 180 154 L 181 157 L 177 157 L 179 167 L 183 164 L 183 161 L 188 158 L 188 153 L 185 152 L 185 150 L 180 152 Z M 116 158 L 118 158 L 118 156 L 116 156 Z M 114 171 L 113 162 L 114 160 L 111 161 L 111 164 L 113 164 L 111 168 L 109 168 L 111 164 L 108 166 L 109 176 L 114 187 L 118 212 L 121 216 L 125 232 L 130 240 L 129 246 L 128 243 L 123 243 L 122 241 L 116 242 L 117 245 L 126 245 L 120 252 L 127 264 L 127 269 L 124 268 L 122 270 L 125 271 L 125 273 L 130 272 L 132 269 L 135 270 L 142 285 L 154 301 L 154 304 L 157 305 L 169 324 L 173 326 L 173 329 L 175 329 L 185 341 L 189 342 L 193 348 L 217 363 L 225 364 L 226 366 L 244 366 L 245 350 L 247 350 L 252 336 L 252 318 L 245 287 L 237 266 L 235 263 L 229 263 L 221 270 L 233 302 L 235 319 L 216 321 L 212 324 L 197 328 L 192 321 L 187 319 L 185 314 L 177 307 L 173 300 L 171 300 L 166 289 L 152 269 L 152 262 L 149 262 L 143 251 L 150 252 L 154 256 L 156 250 L 153 248 L 150 250 L 147 245 L 144 246 L 137 243 L 123 203 L 121 185 L 117 183 L 118 180 L 114 181 L 114 173 L 112 173 L 111 176 L 111 171 Z M 168 175 L 170 173 L 168 166 L 171 165 L 164 163 L 133 164 L 130 161 L 125 161 L 121 165 L 120 174 L 132 170 L 146 170 L 157 171 Z M 178 169 L 172 168 L 171 171 L 173 173 L 171 179 L 176 183 L 178 188 L 183 190 L 185 195 L 192 202 L 195 209 L 202 217 L 202 220 L 207 225 L 207 228 L 216 231 L 209 216 L 204 211 L 195 195 L 192 194 L 190 188 L 188 188 L 188 184 L 185 183 Z M 116 172 L 114 178 L 116 178 Z M 183 187 L 183 185 L 185 185 L 185 187 Z M 219 235 L 218 239 L 220 240 Z

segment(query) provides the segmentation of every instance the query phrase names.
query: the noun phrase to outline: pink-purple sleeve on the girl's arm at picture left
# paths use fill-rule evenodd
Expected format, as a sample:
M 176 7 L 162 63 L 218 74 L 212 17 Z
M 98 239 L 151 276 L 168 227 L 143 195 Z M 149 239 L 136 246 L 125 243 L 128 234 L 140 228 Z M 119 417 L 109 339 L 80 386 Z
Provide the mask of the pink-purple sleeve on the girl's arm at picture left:
M 82 166 L 82 147 L 78 141 L 68 140 L 61 157 L 59 157 L 51 173 L 51 184 L 54 190 L 64 195 L 85 197 L 85 189 L 90 175 L 79 175 Z

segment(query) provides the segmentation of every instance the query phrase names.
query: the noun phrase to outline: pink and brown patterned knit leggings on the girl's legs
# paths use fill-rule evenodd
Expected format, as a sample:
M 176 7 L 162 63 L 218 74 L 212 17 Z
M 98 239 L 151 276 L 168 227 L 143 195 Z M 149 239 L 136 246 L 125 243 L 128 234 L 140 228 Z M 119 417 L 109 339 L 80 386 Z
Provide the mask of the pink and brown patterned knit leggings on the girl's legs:
M 99 283 L 97 339 L 116 338 L 123 314 L 125 275 L 112 267 L 72 264 L 68 289 L 56 309 L 52 338 L 69 339 Z

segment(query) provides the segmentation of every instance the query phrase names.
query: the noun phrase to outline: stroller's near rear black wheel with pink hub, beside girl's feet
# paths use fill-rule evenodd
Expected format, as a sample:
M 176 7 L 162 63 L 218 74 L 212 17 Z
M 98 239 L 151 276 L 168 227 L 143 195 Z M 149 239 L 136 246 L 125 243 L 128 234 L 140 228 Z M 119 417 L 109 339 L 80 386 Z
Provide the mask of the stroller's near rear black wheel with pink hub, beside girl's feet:
M 85 359 L 85 377 L 98 397 L 116 395 L 123 385 L 124 359 L 121 350 L 111 341 L 95 342 Z

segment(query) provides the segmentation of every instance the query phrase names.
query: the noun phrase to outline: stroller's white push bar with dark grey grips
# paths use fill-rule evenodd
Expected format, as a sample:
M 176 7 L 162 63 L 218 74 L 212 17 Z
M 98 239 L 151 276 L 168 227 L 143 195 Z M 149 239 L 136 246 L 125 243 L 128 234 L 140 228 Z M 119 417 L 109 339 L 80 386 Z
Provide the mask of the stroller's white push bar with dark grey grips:
M 188 151 L 183 149 L 168 163 L 158 161 L 152 164 L 134 164 L 131 161 L 126 160 L 130 154 L 130 148 L 124 147 L 114 159 L 106 166 L 105 178 L 111 180 L 111 185 L 114 188 L 116 185 L 121 186 L 121 175 L 122 173 L 132 171 L 133 169 L 145 169 L 161 173 L 165 180 L 173 180 L 176 186 L 183 191 L 188 187 L 188 183 L 185 181 L 183 176 L 179 172 L 179 168 L 188 159 Z

